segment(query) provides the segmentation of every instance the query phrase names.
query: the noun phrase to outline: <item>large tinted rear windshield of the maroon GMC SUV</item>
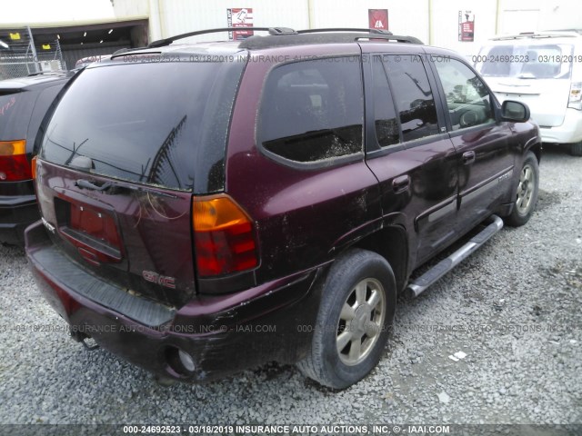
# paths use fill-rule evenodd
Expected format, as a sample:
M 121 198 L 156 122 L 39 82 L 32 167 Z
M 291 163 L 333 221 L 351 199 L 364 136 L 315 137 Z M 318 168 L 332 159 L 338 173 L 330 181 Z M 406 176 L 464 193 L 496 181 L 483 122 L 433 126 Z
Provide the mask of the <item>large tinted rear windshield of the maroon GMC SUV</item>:
M 243 67 L 186 62 L 85 69 L 46 126 L 41 155 L 73 167 L 81 155 L 93 161 L 91 173 L 191 191 L 195 177 L 208 178 L 215 171 L 208 167 L 222 164 Z M 206 173 L 195 174 L 199 159 L 212 161 Z

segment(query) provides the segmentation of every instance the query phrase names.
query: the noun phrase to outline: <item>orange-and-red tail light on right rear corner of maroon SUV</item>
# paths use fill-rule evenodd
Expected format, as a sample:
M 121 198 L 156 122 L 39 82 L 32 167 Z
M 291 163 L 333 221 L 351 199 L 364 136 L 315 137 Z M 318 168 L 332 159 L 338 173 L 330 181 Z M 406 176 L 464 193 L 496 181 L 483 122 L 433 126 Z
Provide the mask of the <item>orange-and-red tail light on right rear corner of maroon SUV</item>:
M 258 265 L 253 223 L 228 195 L 195 197 L 192 221 L 199 276 L 242 272 Z

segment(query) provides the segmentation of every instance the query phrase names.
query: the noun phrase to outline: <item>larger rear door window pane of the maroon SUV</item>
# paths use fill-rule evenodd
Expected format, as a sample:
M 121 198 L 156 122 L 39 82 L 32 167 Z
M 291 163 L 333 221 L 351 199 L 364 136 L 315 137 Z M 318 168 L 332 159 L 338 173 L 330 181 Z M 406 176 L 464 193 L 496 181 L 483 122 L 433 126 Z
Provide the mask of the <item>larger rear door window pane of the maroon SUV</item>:
M 404 141 L 438 134 L 435 99 L 420 56 L 386 54 L 383 59 Z

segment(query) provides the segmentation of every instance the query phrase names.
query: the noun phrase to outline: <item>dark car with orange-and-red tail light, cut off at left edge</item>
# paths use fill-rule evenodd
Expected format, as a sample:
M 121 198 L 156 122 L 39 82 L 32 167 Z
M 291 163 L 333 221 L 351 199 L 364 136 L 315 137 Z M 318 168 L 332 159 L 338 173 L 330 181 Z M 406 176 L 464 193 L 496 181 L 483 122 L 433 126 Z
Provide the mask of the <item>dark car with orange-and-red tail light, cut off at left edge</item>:
M 25 228 L 40 219 L 31 173 L 35 136 L 68 80 L 42 73 L 0 81 L 0 243 L 24 244 Z

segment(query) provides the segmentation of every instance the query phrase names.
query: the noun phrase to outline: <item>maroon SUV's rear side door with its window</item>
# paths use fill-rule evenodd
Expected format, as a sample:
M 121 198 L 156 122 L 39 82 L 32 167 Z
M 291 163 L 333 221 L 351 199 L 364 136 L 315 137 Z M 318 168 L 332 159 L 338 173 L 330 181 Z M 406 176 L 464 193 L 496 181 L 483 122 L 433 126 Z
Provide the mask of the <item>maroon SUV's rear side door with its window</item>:
M 411 263 L 422 263 L 455 236 L 456 149 L 422 56 L 370 54 L 368 59 L 366 162 L 380 183 L 384 215 L 405 217 Z

